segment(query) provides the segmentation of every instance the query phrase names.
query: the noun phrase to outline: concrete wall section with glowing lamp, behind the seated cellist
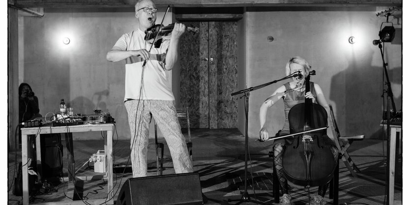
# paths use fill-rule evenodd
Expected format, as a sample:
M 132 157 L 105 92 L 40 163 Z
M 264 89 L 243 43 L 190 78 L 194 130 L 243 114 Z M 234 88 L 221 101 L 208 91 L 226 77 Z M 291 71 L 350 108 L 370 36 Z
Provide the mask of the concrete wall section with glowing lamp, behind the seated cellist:
M 342 134 L 380 137 L 383 99 L 383 67 L 380 50 L 372 45 L 379 39 L 384 17 L 381 7 L 277 7 L 248 8 L 247 86 L 256 86 L 285 76 L 284 67 L 292 56 L 305 58 L 328 103 L 334 108 Z M 385 43 L 385 60 L 397 109 L 402 104 L 401 18 L 392 19 L 396 30 L 393 43 Z M 385 26 L 385 25 L 384 25 Z M 267 42 L 267 36 L 274 41 Z M 357 42 L 349 44 L 355 36 Z M 253 91 L 249 105 L 249 136 L 258 137 L 259 107 L 284 82 Z M 272 135 L 284 122 L 283 102 L 268 111 Z

